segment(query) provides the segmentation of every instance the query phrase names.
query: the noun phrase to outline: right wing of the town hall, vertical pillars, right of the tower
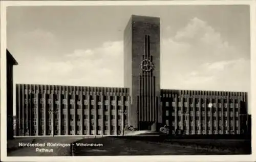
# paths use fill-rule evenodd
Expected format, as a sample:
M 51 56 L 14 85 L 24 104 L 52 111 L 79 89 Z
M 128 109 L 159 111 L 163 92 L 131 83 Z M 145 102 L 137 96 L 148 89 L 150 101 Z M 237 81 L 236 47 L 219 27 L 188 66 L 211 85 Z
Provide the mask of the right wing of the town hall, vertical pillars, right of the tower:
M 162 89 L 161 96 L 170 133 L 248 133 L 246 92 Z

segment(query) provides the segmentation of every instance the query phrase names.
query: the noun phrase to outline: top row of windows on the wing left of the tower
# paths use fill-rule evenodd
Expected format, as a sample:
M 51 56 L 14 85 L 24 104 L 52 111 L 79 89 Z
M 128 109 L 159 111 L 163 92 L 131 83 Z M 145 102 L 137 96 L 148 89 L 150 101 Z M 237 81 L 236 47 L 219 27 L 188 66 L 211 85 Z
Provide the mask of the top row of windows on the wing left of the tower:
M 24 103 L 25 103 L 25 104 L 30 103 L 30 99 L 24 99 Z M 37 99 L 36 99 L 36 98 L 32 99 L 32 103 L 33 103 L 33 104 L 37 104 Z M 39 100 L 39 103 L 40 103 L 40 104 L 45 104 L 45 99 L 40 99 L 40 100 Z M 70 104 L 73 105 L 74 103 L 75 103 L 75 101 L 74 101 L 73 99 L 70 99 Z M 47 99 L 47 104 L 52 104 L 52 99 Z M 59 105 L 59 104 L 60 104 L 59 100 L 55 100 L 55 104 Z M 62 104 L 63 104 L 63 105 L 67 105 L 67 99 L 63 99 L 63 100 L 62 100 Z M 77 104 L 77 105 L 80 105 L 80 104 L 81 104 L 81 101 L 80 101 L 80 100 L 76 101 L 76 104 Z M 84 104 L 84 105 L 88 105 L 88 100 L 84 100 L 84 101 L 83 101 L 83 104 Z M 128 104 L 129 104 L 128 101 L 124 101 L 124 105 L 125 105 L 125 106 L 128 106 Z M 91 100 L 91 105 L 95 105 L 95 101 L 94 101 L 94 100 Z M 98 105 L 102 105 L 102 101 L 99 101 L 99 102 L 98 102 Z M 105 100 L 105 101 L 104 101 L 104 105 L 108 106 L 108 105 L 109 105 L 109 100 Z M 115 105 L 116 105 L 115 100 L 112 100 L 112 101 L 111 101 L 111 105 L 112 105 L 112 106 L 115 106 Z M 118 101 L 118 106 L 122 106 L 122 105 L 123 105 L 122 101 Z

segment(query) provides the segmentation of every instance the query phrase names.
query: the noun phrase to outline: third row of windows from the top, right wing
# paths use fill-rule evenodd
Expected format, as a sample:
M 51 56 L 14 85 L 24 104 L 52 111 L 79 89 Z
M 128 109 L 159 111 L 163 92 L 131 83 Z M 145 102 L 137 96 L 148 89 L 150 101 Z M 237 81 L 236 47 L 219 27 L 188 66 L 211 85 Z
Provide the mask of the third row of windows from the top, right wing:
M 166 125 L 169 125 L 169 120 L 166 120 L 165 123 L 166 123 Z M 195 125 L 195 122 L 194 122 L 194 121 L 190 121 L 189 123 L 190 123 L 190 124 L 188 124 L 188 121 L 184 121 L 184 122 L 183 122 L 183 125 L 184 125 L 184 126 L 190 125 L 190 126 L 192 126 L 192 127 Z M 208 126 L 208 127 L 210 127 L 212 124 L 213 124 L 214 127 L 216 127 L 216 126 L 217 126 L 217 121 L 213 121 L 213 123 L 211 123 L 210 121 L 207 122 L 207 126 Z M 222 121 L 220 120 L 220 121 L 219 121 L 219 127 L 222 127 L 222 126 L 223 126 L 222 124 L 223 124 L 223 123 L 222 123 Z M 229 121 L 229 126 L 230 126 L 230 127 L 233 127 L 233 124 L 234 124 L 233 121 Z M 176 125 L 176 123 L 175 123 L 175 121 L 173 121 L 173 122 L 172 122 L 172 126 L 174 127 L 175 125 Z M 182 122 L 179 121 L 179 122 L 178 122 L 178 126 L 182 126 Z M 197 126 L 197 127 L 200 126 L 200 121 L 199 121 L 199 120 L 196 120 L 196 125 L 195 125 L 195 126 Z M 201 121 L 201 126 L 203 126 L 203 127 L 206 126 L 204 120 Z M 227 122 L 226 120 L 224 121 L 224 126 L 225 126 L 225 127 L 228 126 L 228 122 Z M 236 127 L 238 127 L 238 126 L 239 126 L 239 121 L 236 121 Z

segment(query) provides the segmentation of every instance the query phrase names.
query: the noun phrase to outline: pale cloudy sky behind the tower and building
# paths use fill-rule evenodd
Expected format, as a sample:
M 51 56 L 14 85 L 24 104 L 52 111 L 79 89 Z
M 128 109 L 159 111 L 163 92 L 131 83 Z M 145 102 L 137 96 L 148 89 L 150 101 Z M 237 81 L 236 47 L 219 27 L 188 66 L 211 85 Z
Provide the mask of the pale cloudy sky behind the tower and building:
M 132 14 L 160 17 L 162 89 L 250 94 L 246 5 L 8 7 L 14 84 L 123 87 Z

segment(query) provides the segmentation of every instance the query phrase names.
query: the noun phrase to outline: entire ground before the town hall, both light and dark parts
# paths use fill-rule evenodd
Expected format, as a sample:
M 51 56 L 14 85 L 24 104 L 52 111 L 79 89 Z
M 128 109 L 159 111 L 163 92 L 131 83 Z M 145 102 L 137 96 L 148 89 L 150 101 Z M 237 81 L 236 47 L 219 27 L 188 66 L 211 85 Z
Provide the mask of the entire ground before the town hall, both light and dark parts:
M 114 155 L 223 155 L 234 154 L 227 149 L 209 147 L 205 141 L 159 141 L 156 136 L 143 137 L 24 137 L 8 141 L 8 156 L 114 156 Z M 158 142 L 159 141 L 159 142 Z M 36 152 L 35 147 L 18 148 L 18 143 L 74 143 L 71 147 L 45 147 L 53 152 Z M 207 141 L 209 143 L 209 141 Z M 212 143 L 217 141 L 212 141 Z M 205 145 L 204 148 L 201 146 Z M 229 142 L 230 143 L 230 142 Z M 233 142 L 231 142 L 233 143 Z M 77 144 L 96 144 L 77 146 Z M 226 143 L 227 144 L 227 143 Z M 228 144 L 230 145 L 230 144 Z M 241 146 L 241 145 L 240 145 Z

